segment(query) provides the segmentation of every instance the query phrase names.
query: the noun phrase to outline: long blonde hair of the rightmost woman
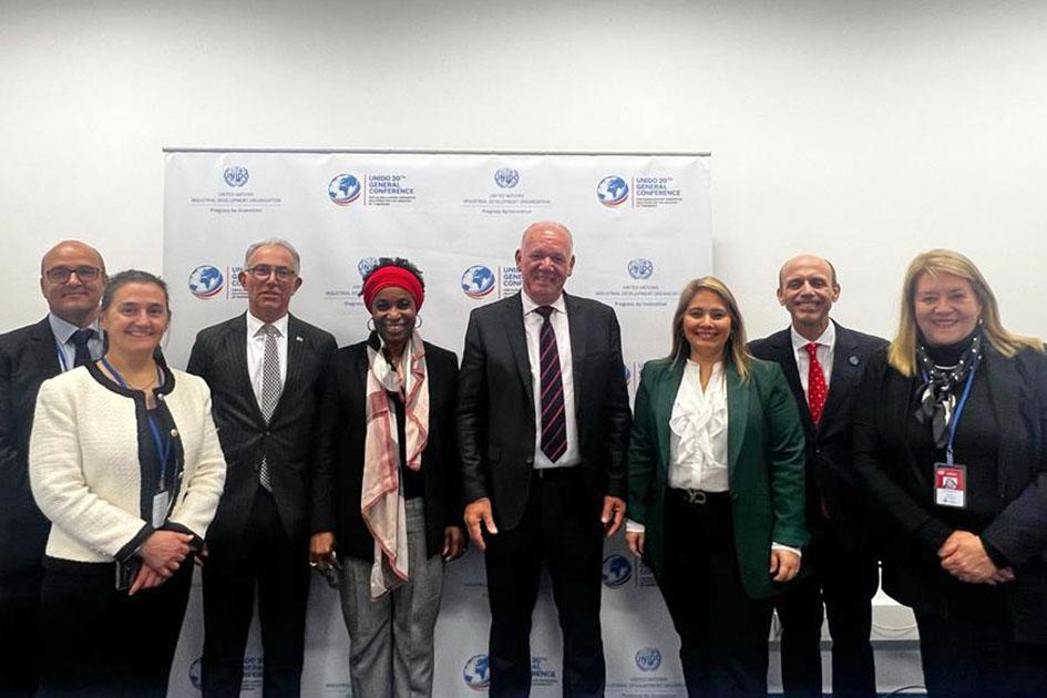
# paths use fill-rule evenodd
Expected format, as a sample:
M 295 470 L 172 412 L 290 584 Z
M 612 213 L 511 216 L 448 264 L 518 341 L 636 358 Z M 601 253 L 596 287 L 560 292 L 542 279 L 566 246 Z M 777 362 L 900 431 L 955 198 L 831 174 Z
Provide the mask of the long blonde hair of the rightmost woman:
M 902 310 L 899 317 L 897 333 L 887 349 L 887 362 L 902 376 L 916 372 L 916 327 L 915 292 L 916 283 L 924 274 L 937 276 L 952 274 L 971 284 L 974 295 L 982 306 L 982 332 L 985 340 L 1005 357 L 1013 357 L 1022 349 L 1044 351 L 1044 343 L 1034 337 L 1022 337 L 1004 329 L 999 321 L 999 306 L 996 296 L 982 273 L 971 259 L 952 249 L 931 249 L 910 263 L 902 284 Z

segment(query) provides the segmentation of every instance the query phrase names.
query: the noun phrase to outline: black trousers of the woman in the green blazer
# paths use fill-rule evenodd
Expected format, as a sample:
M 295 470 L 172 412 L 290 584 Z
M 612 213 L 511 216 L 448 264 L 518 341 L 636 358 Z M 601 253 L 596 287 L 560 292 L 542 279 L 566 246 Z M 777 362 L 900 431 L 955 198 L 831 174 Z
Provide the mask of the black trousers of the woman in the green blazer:
M 730 494 L 689 504 L 667 491 L 658 587 L 680 636 L 687 695 L 766 696 L 771 603 L 742 587 Z

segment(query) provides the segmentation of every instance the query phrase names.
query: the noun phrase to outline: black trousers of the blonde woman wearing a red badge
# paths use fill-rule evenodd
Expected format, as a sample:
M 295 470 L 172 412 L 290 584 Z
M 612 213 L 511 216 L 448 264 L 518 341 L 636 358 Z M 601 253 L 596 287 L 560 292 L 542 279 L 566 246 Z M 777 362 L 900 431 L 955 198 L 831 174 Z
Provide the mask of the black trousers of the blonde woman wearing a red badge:
M 944 616 L 914 609 L 927 696 L 1047 696 L 1047 646 L 1014 640 L 1005 589 L 969 587 Z

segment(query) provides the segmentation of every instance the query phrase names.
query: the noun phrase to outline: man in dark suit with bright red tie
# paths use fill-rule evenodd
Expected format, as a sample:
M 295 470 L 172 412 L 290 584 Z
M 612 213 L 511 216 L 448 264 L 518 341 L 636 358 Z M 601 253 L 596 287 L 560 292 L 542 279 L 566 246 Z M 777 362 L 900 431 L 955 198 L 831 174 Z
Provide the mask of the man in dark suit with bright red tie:
M 787 696 L 821 696 L 822 603 L 832 636 L 834 696 L 875 696 L 871 599 L 879 585 L 863 531 L 863 495 L 852 474 L 851 421 L 866 359 L 886 341 L 829 318 L 840 297 L 827 260 L 802 255 L 778 275 L 778 300 L 789 329 L 750 342 L 750 352 L 777 361 L 792 388 L 807 435 L 808 527 L 803 566 L 813 574 L 774 604 L 782 624 L 782 684 Z

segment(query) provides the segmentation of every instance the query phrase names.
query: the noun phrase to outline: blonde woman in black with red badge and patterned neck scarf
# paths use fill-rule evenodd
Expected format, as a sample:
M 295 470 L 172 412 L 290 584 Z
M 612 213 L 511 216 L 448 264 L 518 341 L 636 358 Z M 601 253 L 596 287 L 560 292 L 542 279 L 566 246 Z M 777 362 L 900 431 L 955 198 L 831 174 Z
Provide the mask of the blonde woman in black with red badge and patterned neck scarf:
M 963 255 L 910 265 L 853 440 L 884 520 L 883 587 L 913 607 L 927 694 L 1044 695 L 1047 356 L 1004 329 Z

